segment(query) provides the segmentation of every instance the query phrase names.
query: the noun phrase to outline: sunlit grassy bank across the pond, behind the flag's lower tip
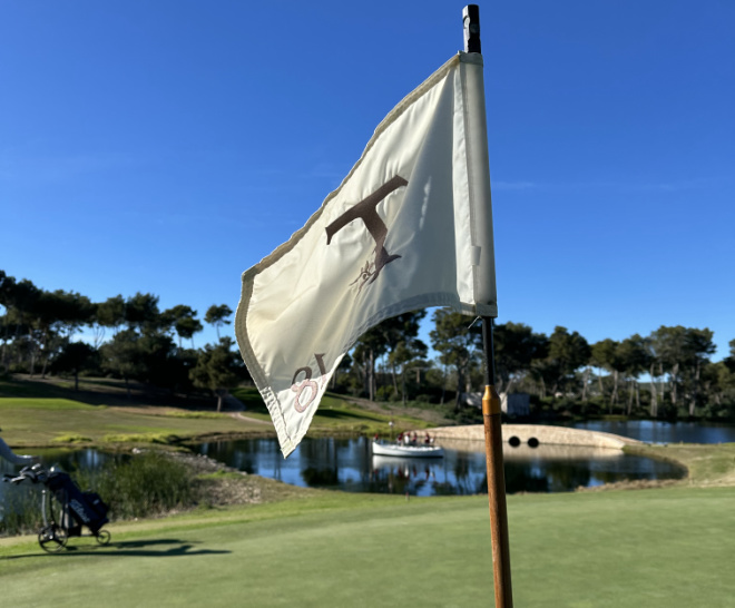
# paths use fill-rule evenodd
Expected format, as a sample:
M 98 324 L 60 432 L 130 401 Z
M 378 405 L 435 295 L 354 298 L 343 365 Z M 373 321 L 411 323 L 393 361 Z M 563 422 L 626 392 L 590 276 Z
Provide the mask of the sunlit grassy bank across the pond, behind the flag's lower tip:
M 244 411 L 213 411 L 214 401 L 174 399 L 122 382 L 92 379 L 74 391 L 63 381 L 0 381 L 2 439 L 14 449 L 59 445 L 178 444 L 224 437 L 274 435 L 271 418 L 255 389 L 233 391 Z M 339 398 L 324 398 L 311 434 L 388 433 L 429 423 L 415 416 L 370 411 Z

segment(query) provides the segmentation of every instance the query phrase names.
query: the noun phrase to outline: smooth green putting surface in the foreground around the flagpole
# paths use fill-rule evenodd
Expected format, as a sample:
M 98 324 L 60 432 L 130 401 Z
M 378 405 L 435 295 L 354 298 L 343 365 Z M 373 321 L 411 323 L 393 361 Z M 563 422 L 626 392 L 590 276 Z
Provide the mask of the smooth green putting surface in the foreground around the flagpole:
M 732 606 L 733 488 L 509 497 L 516 606 Z M 0 541 L 3 605 L 492 606 L 487 498 L 316 492 Z

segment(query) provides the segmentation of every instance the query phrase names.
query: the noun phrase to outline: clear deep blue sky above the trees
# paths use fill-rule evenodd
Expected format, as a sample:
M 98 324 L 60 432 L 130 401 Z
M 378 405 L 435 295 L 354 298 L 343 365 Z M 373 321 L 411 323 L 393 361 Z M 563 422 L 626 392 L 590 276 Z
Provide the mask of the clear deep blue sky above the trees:
M 3 2 L 0 268 L 95 301 L 239 298 L 464 2 Z M 481 3 L 499 322 L 735 339 L 735 3 Z M 195 337 L 214 340 L 214 331 Z

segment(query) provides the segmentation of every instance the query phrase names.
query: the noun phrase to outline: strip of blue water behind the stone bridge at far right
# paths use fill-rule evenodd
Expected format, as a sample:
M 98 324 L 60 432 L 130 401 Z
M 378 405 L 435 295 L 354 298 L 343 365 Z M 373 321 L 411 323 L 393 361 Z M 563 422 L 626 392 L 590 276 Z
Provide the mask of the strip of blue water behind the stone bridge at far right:
M 732 443 L 735 425 L 716 422 L 664 422 L 660 420 L 592 420 L 568 424 L 574 429 L 602 431 L 648 443 Z

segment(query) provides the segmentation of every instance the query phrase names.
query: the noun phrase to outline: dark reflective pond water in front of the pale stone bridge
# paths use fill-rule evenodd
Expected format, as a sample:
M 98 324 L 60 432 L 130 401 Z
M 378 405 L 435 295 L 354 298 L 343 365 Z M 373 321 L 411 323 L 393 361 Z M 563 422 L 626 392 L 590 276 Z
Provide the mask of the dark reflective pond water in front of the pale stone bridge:
M 443 459 L 373 457 L 359 439 L 305 439 L 284 460 L 275 439 L 205 443 L 197 448 L 231 467 L 310 488 L 412 496 L 487 492 L 482 445 L 444 447 Z M 506 448 L 508 492 L 564 492 L 626 479 L 675 479 L 684 471 L 669 462 L 617 450 L 526 445 Z

